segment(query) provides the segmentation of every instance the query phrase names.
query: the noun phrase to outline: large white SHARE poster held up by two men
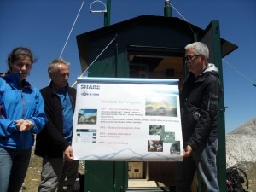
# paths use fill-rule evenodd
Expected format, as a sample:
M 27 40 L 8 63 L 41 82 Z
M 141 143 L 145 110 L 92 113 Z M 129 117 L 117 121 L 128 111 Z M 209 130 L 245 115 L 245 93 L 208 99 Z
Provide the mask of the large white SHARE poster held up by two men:
M 76 160 L 179 161 L 178 80 L 79 78 Z

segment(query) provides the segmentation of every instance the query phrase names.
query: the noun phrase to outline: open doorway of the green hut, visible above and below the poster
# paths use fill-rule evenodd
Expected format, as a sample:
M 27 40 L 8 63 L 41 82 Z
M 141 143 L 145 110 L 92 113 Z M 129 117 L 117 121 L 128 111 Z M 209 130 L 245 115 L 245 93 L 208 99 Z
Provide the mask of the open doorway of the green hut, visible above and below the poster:
M 129 55 L 130 78 L 179 79 L 183 84 L 183 53 L 158 51 L 131 51 Z M 175 186 L 177 162 L 128 162 L 128 189 L 172 188 Z

